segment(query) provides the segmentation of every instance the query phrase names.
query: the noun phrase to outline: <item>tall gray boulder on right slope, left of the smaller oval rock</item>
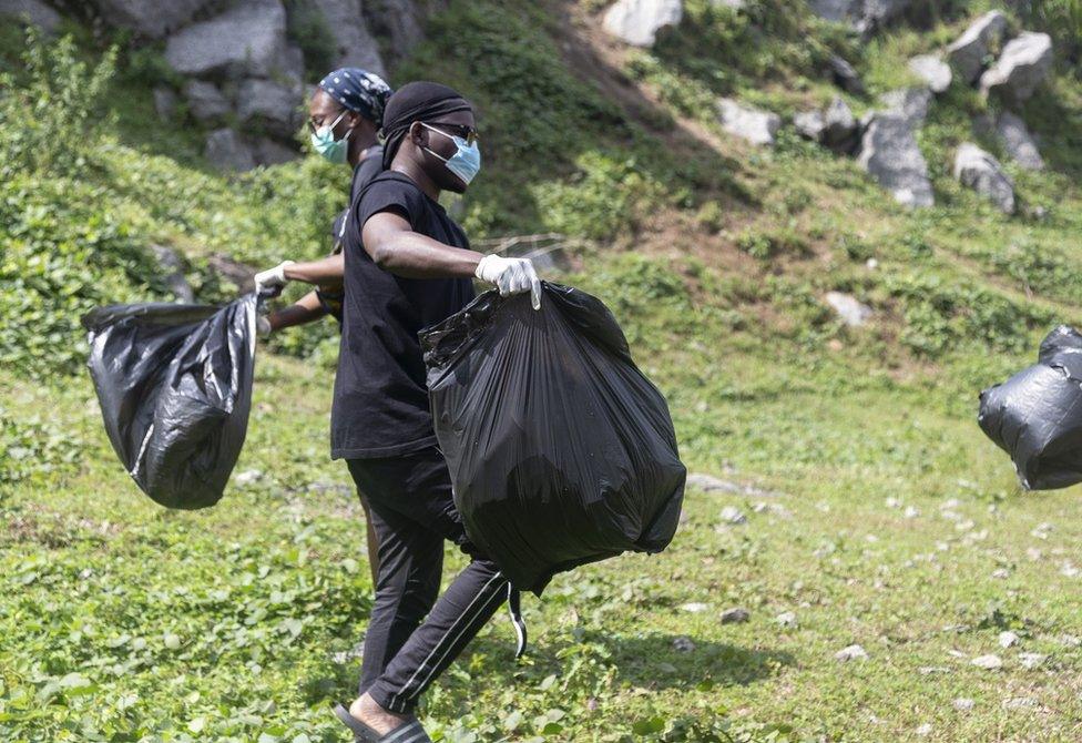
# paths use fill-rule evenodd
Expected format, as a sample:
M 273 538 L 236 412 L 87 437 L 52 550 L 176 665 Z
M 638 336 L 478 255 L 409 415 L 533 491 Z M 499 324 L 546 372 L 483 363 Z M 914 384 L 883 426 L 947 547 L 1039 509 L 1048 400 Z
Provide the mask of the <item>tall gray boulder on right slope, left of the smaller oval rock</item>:
M 894 112 L 871 114 L 860 140 L 857 162 L 898 203 L 913 207 L 936 203 L 928 163 L 917 146 L 910 119 Z

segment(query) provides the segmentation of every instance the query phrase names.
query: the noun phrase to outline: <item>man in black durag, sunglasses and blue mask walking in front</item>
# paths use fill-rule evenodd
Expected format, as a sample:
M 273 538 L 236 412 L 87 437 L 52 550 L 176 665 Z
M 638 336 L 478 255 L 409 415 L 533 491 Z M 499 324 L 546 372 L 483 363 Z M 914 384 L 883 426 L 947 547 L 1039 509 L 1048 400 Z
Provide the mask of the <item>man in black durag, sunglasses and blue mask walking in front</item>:
M 360 695 L 339 719 L 357 741 L 428 741 L 418 696 L 506 600 L 508 580 L 469 542 L 451 498 L 417 334 L 462 309 L 476 276 L 501 294 L 541 284 L 521 258 L 482 255 L 439 204 L 480 169 L 473 112 L 446 85 L 405 85 L 384 113 L 384 166 L 354 202 L 343 238 L 345 302 L 331 456 L 347 460 L 379 542 Z M 443 540 L 471 562 L 439 597 Z

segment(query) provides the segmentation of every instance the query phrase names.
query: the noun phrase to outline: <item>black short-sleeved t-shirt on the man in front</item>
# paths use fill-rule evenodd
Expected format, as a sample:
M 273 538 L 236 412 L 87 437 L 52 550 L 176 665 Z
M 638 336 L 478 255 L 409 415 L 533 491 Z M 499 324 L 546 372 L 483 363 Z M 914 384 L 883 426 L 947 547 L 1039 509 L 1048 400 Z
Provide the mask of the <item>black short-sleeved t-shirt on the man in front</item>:
M 360 242 L 365 222 L 394 212 L 415 232 L 456 247 L 466 233 L 414 181 L 386 171 L 346 220 L 341 345 L 330 413 L 334 459 L 395 457 L 436 444 L 417 334 L 473 298 L 468 278 L 404 278 L 378 267 Z

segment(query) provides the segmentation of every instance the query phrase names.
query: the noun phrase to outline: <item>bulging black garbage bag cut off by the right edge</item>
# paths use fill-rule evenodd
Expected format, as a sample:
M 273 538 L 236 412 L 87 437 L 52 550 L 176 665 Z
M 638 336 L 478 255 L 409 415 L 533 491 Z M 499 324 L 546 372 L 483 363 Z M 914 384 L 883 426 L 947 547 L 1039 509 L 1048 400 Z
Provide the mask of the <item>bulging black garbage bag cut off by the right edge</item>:
M 1038 364 L 981 393 L 977 421 L 1023 488 L 1082 482 L 1082 335 L 1066 325 L 1049 333 Z

